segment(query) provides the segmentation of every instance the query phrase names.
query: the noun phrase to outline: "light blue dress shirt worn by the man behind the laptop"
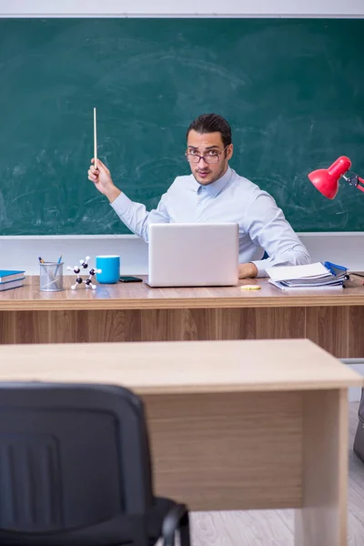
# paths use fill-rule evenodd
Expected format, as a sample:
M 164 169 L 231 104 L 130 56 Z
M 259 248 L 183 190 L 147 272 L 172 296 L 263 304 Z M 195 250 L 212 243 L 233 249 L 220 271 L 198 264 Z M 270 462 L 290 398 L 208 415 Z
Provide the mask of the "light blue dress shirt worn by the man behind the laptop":
M 271 266 L 307 264 L 309 256 L 273 197 L 239 177 L 230 167 L 216 182 L 198 184 L 193 175 L 177 177 L 156 209 L 131 201 L 124 193 L 111 205 L 133 233 L 148 240 L 149 224 L 161 222 L 227 223 L 239 226 L 239 262 L 253 262 L 258 277 Z M 261 259 L 266 250 L 267 259 Z

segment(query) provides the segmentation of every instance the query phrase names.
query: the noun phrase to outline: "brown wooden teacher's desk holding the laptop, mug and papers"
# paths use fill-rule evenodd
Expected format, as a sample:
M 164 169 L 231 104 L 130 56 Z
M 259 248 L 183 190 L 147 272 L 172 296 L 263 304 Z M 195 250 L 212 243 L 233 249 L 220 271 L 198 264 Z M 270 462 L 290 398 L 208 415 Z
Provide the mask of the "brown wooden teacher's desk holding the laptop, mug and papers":
M 72 280 L 53 294 L 39 291 L 37 277 L 0 292 L 0 343 L 308 338 L 338 358 L 364 357 L 362 278 L 342 291 L 297 292 L 267 279 L 250 292 L 145 283 L 73 291 Z

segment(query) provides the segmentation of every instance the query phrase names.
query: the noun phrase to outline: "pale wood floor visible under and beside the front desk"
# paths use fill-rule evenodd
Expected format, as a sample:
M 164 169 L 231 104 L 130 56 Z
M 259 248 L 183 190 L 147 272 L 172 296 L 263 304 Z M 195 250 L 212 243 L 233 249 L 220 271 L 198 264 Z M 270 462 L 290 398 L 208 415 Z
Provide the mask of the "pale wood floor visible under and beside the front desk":
M 353 453 L 359 402 L 349 404 L 349 546 L 364 544 L 364 463 Z M 192 514 L 192 546 L 293 546 L 294 512 Z

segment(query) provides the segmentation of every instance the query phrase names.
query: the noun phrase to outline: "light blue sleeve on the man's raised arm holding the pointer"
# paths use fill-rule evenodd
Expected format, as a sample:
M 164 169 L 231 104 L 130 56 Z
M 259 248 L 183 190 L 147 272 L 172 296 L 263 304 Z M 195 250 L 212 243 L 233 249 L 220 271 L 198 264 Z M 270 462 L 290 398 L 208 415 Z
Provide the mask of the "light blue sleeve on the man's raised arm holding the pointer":
M 166 202 L 167 193 L 161 197 L 157 208 L 148 212 L 145 205 L 136 203 L 136 201 L 132 201 L 124 193 L 121 193 L 111 203 L 111 207 L 114 208 L 117 216 L 130 231 L 147 242 L 149 224 L 169 223 Z

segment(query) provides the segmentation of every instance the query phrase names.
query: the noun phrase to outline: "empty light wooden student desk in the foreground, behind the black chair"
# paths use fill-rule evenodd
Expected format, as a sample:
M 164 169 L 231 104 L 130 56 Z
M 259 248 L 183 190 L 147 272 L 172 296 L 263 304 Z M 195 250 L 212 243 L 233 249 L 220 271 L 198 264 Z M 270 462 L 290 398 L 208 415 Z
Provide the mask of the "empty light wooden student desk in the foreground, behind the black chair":
M 0 380 L 124 385 L 146 403 L 157 494 L 297 508 L 296 544 L 347 543 L 348 387 L 308 340 L 13 345 Z

